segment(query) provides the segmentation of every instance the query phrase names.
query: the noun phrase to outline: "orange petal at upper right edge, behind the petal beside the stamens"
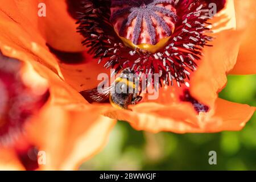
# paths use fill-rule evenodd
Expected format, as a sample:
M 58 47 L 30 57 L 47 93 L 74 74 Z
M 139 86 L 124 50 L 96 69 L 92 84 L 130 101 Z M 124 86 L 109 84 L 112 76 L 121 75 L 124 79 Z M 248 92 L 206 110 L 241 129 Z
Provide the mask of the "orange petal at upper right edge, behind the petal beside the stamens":
M 237 26 L 242 31 L 242 43 L 237 58 L 237 64 L 230 72 L 236 75 L 256 73 L 256 1 L 235 1 Z

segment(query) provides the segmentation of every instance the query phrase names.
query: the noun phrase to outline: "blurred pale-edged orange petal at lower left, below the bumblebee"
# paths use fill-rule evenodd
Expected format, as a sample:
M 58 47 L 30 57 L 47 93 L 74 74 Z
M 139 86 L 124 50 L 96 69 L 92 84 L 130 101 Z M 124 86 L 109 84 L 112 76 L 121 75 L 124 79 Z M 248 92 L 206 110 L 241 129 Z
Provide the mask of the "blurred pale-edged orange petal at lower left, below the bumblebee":
M 94 108 L 75 110 L 49 103 L 28 126 L 31 141 L 46 152 L 46 164 L 39 165 L 39 169 L 78 169 L 101 150 L 114 124 L 113 119 L 100 116 Z

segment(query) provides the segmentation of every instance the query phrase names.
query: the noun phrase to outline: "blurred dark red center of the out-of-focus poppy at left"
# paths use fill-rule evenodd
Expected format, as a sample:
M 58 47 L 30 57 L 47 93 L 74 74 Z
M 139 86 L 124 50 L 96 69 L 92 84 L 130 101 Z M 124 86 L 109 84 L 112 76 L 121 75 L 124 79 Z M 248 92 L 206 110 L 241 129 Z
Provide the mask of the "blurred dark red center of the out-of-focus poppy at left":
M 0 53 L 0 147 L 12 146 L 23 135 L 24 123 L 48 99 L 35 94 L 20 78 L 20 62 Z

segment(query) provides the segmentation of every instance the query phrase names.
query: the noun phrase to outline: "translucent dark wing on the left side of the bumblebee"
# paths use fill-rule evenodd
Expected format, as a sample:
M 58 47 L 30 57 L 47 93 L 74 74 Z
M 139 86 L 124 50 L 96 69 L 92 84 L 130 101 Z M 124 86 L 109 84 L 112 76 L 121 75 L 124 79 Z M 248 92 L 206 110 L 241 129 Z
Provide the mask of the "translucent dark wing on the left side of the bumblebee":
M 89 102 L 108 102 L 109 101 L 109 94 L 110 94 L 110 87 L 104 89 L 89 89 L 83 90 L 80 94 Z

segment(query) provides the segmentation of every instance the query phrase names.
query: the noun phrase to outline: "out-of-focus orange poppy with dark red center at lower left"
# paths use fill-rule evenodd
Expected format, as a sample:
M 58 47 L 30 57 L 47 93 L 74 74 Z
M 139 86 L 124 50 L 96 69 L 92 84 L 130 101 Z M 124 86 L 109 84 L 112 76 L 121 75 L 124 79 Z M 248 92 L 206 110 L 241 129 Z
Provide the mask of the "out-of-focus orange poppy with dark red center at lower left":
M 30 64 L 0 56 L 0 169 L 76 169 L 99 150 L 111 119 L 82 105 L 73 110 Z M 51 89 L 65 93 L 64 86 Z M 92 115 L 84 121 L 87 111 Z

